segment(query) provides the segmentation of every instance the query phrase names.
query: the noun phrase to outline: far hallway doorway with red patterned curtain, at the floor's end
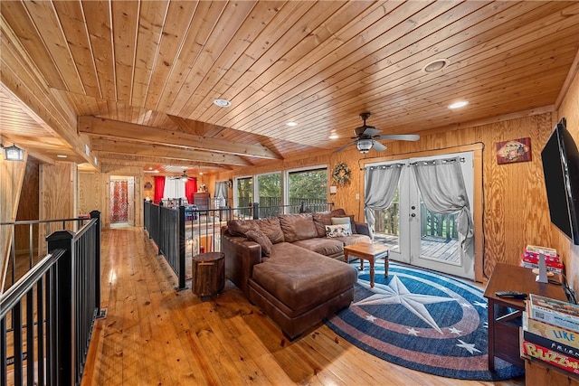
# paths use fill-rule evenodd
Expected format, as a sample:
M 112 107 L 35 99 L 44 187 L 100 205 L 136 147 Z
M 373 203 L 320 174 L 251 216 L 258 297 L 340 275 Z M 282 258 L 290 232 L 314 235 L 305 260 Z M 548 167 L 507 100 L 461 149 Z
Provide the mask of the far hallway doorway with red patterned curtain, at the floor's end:
M 111 228 L 135 225 L 135 178 L 111 175 L 109 181 Z

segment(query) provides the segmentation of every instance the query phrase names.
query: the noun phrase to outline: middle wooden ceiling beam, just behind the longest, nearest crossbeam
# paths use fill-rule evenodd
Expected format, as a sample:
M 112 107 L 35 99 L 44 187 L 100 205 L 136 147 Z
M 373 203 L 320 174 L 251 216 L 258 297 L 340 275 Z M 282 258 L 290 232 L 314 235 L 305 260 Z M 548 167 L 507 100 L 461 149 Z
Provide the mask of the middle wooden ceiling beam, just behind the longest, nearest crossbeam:
M 143 155 L 158 158 L 181 159 L 194 164 L 199 162 L 207 162 L 210 164 L 223 165 L 252 165 L 252 163 L 242 159 L 242 157 L 238 155 L 208 153 L 174 146 L 163 146 L 157 144 L 145 144 L 128 141 L 123 142 L 103 138 L 93 138 L 92 149 L 99 152 L 123 155 Z

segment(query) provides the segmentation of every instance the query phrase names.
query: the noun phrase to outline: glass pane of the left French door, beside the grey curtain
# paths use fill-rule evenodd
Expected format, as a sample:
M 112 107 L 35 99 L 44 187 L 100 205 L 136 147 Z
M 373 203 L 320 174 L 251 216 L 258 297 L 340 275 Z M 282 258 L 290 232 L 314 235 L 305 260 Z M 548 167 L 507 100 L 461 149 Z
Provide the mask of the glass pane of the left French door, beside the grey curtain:
M 400 186 L 387 209 L 373 210 L 375 217 L 374 240 L 390 247 L 391 252 L 400 251 Z

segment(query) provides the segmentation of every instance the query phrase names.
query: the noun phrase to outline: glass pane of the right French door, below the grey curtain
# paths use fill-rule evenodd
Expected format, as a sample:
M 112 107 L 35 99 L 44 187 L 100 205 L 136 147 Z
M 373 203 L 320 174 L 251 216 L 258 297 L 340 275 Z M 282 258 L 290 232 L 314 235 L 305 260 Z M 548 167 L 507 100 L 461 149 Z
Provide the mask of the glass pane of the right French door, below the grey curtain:
M 441 214 L 431 212 L 420 201 L 421 248 L 423 259 L 442 260 L 460 264 L 458 212 Z

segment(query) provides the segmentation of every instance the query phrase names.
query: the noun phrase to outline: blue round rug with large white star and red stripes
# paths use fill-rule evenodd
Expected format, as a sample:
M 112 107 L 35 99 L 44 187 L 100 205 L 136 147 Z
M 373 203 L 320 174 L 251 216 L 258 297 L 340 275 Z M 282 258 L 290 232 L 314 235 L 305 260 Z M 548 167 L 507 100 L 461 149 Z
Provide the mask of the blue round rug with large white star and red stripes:
M 392 262 L 384 278 L 382 261 L 377 265 L 375 287 L 365 265 L 354 303 L 326 321 L 338 335 L 385 361 L 434 375 L 498 381 L 525 373 L 498 358 L 489 372 L 487 300 L 479 288 Z

